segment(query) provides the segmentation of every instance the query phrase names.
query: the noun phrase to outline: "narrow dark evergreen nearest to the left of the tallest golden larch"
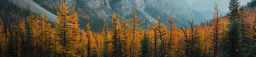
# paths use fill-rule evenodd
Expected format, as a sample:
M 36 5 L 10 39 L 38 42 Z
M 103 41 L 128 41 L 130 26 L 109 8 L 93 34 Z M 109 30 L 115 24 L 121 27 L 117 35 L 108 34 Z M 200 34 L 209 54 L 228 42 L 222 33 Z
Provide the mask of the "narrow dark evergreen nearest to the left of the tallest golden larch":
M 25 41 L 25 56 L 26 57 L 34 57 L 34 50 L 33 50 L 33 44 L 32 44 L 32 33 L 31 33 L 31 27 L 30 27 L 30 22 L 26 21 L 26 30 L 27 30 L 27 36 L 26 36 L 26 41 Z

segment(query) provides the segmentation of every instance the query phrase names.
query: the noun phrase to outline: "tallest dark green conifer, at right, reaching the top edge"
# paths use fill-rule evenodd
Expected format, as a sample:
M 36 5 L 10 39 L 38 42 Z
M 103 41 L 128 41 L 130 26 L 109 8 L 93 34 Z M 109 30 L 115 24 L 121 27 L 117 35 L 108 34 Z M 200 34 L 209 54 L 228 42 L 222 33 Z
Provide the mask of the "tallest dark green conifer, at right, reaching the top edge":
M 240 30 L 241 30 L 241 19 L 238 7 L 240 2 L 238 0 L 230 0 L 229 2 L 229 24 L 227 25 L 228 33 L 227 38 L 224 38 L 224 46 L 226 49 L 226 56 L 228 57 L 240 57 Z

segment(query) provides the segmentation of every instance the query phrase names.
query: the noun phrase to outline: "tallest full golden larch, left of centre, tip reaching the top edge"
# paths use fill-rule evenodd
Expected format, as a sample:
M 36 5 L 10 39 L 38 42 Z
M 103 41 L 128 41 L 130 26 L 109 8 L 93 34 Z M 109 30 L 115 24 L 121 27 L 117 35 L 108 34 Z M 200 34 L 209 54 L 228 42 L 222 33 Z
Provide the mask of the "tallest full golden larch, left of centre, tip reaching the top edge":
M 70 10 L 68 10 L 69 7 L 67 7 L 67 0 L 61 1 L 61 8 L 60 8 L 60 12 L 58 12 L 57 14 L 57 18 L 59 19 L 59 21 L 55 21 L 56 23 L 56 33 L 54 33 L 55 35 L 57 35 L 61 41 L 60 41 L 60 48 L 61 50 L 59 50 L 59 53 L 62 54 L 63 57 L 70 57 L 70 56 L 79 56 L 76 53 L 76 51 L 74 50 L 74 40 L 73 38 L 74 33 L 72 33 L 73 31 L 73 27 L 75 27 L 74 24 L 74 19 L 72 19 L 71 17 L 73 16 L 68 16 L 67 13 L 69 13 Z

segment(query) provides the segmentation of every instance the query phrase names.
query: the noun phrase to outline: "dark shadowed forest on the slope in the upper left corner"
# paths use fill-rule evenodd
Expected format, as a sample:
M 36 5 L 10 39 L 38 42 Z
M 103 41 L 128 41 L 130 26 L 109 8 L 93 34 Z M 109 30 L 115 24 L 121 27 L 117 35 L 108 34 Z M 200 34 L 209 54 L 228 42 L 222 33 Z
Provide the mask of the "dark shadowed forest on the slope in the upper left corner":
M 31 13 L 29 5 L 22 7 L 18 2 L 15 3 L 11 0 L 0 1 L 0 7 L 0 17 L 6 25 L 23 21 L 29 16 L 29 13 Z

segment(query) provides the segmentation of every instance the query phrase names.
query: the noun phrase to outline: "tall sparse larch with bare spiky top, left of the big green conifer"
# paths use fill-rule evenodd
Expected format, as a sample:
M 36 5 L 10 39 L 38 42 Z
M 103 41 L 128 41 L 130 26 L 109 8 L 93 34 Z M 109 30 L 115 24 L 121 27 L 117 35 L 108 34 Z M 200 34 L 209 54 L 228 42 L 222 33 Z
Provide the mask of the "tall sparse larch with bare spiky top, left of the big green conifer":
M 212 13 L 213 15 L 213 20 L 212 20 L 212 27 L 210 30 L 211 35 L 209 36 L 210 38 L 210 50 L 213 50 L 212 54 L 209 54 L 210 56 L 217 57 L 220 52 L 220 41 L 221 41 L 221 30 L 222 30 L 222 23 L 220 23 L 220 18 L 222 16 L 222 12 L 218 9 L 217 3 L 215 2 L 215 6 L 213 7 L 214 12 Z

